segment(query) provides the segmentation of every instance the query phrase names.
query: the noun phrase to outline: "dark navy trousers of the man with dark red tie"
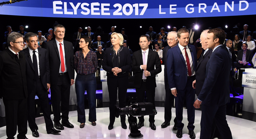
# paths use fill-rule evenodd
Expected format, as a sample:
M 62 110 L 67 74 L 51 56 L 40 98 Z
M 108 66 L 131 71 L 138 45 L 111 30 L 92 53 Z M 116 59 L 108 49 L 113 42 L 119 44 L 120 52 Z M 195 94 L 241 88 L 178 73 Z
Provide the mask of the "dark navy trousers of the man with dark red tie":
M 175 108 L 176 108 L 176 118 L 177 118 L 177 128 L 182 130 L 184 127 L 184 123 L 182 123 L 183 119 L 183 103 L 186 98 L 187 104 L 187 113 L 188 113 L 188 130 L 194 130 L 195 126 L 193 125 L 195 122 L 195 92 L 192 87 L 192 82 L 195 80 L 195 76 L 190 77 L 187 80 L 187 84 L 184 90 L 177 90 L 177 97 L 175 97 Z

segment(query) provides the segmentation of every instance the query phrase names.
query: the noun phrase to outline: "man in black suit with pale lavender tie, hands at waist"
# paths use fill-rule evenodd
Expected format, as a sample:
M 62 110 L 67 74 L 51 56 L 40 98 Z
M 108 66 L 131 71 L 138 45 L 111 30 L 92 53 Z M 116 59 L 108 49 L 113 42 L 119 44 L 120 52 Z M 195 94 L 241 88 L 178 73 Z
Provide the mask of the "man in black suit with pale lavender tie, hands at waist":
M 136 97 L 138 102 L 144 102 L 145 92 L 147 102 L 155 105 L 155 91 L 156 91 L 156 75 L 162 71 L 160 58 L 158 53 L 150 50 L 149 37 L 142 35 L 140 37 L 141 50 L 134 52 L 132 57 L 132 71 L 134 72 L 134 87 L 136 89 Z M 156 67 L 156 69 L 155 69 Z M 144 126 L 144 116 L 138 117 L 138 129 Z M 149 126 L 152 130 L 156 130 L 155 115 L 149 115 Z

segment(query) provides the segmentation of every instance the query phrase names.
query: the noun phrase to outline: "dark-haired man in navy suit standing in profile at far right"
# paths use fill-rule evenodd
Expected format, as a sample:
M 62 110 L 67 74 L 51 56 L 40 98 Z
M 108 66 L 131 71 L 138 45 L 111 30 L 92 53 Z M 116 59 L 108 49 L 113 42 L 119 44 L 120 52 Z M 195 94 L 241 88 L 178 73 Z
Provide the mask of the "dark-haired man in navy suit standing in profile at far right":
M 214 28 L 208 31 L 206 37 L 207 48 L 213 53 L 207 62 L 203 88 L 194 102 L 195 108 L 202 103 L 200 139 L 209 139 L 212 124 L 215 121 L 221 138 L 232 139 L 230 128 L 226 120 L 226 104 L 229 97 L 229 73 L 231 59 L 227 49 L 222 45 L 225 41 L 225 32 Z

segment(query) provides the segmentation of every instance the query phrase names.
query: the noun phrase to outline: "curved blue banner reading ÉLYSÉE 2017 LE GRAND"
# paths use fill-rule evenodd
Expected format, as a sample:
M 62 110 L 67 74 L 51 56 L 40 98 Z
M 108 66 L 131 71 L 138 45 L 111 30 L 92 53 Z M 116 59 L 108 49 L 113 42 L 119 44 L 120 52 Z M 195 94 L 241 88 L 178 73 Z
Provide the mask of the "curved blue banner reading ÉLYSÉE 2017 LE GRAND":
M 186 18 L 255 15 L 255 0 L 28 0 L 1 15 L 65 18 Z

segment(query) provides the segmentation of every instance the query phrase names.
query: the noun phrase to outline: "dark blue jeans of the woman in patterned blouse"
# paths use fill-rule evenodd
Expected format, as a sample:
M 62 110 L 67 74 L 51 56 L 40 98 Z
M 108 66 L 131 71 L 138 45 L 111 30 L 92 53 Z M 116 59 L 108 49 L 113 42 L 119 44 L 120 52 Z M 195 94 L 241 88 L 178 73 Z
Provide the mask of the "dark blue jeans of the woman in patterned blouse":
M 94 74 L 76 75 L 77 122 L 85 123 L 85 89 L 89 102 L 89 122 L 96 121 L 96 78 Z

